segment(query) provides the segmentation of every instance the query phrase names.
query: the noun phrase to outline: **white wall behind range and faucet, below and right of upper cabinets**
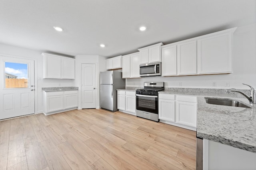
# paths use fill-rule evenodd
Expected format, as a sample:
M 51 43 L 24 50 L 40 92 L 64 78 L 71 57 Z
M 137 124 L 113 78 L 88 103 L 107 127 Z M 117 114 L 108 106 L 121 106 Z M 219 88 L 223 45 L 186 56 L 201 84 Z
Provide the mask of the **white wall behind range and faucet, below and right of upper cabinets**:
M 255 65 L 256 23 L 238 27 L 234 32 L 232 74 L 128 78 L 126 86 L 143 86 L 143 82 L 159 81 L 164 82 L 166 87 L 249 89 L 242 85 L 245 83 L 256 88 Z M 179 86 L 179 82 L 182 82 L 182 86 Z M 216 82 L 217 86 L 212 87 L 212 82 Z M 224 82 L 229 82 L 230 87 L 225 87 Z

